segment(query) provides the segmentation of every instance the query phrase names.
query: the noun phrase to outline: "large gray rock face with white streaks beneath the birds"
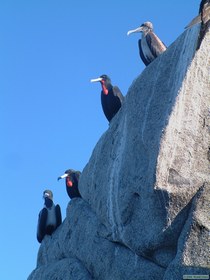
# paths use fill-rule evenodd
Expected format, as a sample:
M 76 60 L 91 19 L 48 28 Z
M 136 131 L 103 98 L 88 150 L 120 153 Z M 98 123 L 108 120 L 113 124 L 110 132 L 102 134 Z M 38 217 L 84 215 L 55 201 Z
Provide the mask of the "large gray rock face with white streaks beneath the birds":
M 185 31 L 133 82 L 29 280 L 210 273 L 210 32 Z

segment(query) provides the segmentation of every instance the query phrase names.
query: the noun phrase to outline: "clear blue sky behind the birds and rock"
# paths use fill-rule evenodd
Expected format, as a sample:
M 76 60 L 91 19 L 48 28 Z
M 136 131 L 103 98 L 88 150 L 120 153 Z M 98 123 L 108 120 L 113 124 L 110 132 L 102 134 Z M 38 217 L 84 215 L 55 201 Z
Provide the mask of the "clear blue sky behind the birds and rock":
M 108 74 L 126 95 L 144 70 L 127 31 L 144 21 L 169 46 L 200 0 L 1 0 L 0 279 L 23 280 L 36 266 L 38 213 L 49 188 L 65 218 L 57 177 L 82 171 L 108 122 L 100 84 Z

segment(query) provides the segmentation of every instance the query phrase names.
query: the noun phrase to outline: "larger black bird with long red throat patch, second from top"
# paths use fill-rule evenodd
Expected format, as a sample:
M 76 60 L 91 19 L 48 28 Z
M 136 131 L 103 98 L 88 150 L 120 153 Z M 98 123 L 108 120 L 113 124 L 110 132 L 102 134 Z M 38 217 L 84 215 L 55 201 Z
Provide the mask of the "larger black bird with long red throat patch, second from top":
M 121 108 L 124 96 L 117 86 L 111 84 L 107 75 L 101 75 L 97 79 L 92 79 L 91 82 L 101 83 L 101 105 L 107 120 L 110 122 Z

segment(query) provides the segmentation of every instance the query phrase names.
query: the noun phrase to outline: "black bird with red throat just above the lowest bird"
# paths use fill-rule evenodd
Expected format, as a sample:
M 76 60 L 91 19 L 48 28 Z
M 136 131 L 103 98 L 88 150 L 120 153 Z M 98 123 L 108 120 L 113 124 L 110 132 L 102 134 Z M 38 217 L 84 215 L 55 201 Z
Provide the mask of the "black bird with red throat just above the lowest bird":
M 58 180 L 66 178 L 66 191 L 70 198 L 81 197 L 78 182 L 81 175 L 80 171 L 75 171 L 73 169 L 68 169 L 65 173 L 58 177 Z

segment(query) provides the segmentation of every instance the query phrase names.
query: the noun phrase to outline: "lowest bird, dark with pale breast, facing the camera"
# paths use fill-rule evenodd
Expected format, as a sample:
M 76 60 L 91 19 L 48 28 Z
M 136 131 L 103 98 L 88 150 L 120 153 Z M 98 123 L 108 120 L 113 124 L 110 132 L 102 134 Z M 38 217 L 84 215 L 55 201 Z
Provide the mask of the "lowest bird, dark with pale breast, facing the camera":
M 42 242 L 44 236 L 51 235 L 62 222 L 61 209 L 53 203 L 53 193 L 50 190 L 43 192 L 44 208 L 39 212 L 37 226 L 37 240 Z

